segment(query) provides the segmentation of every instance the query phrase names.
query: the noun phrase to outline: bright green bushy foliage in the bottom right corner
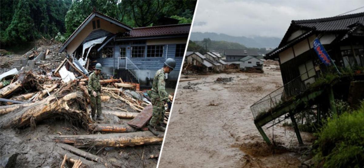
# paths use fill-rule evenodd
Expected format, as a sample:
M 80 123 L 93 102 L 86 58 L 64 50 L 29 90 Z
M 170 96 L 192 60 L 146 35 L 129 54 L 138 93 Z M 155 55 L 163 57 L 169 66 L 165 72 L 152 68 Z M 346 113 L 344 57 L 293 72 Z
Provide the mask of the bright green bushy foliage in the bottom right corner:
M 314 142 L 317 167 L 364 166 L 364 102 L 361 107 L 341 115 L 333 114 Z

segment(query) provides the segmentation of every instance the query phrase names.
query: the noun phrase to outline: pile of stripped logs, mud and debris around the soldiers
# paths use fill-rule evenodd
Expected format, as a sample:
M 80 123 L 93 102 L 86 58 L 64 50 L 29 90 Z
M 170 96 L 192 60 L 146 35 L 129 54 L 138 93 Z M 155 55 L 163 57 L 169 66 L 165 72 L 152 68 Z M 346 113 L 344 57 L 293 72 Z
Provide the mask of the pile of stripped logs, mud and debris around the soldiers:
M 148 116 L 134 120 L 139 114 L 151 117 L 152 113 L 152 108 L 147 108 L 151 107 L 150 99 L 139 91 L 139 84 L 101 79 L 105 120 L 94 121 L 88 73 L 76 67 L 75 59 L 52 52 L 57 48 L 59 45 L 31 50 L 24 54 L 25 66 L 23 61 L 14 61 L 10 70 L 0 74 L 0 156 L 12 158 L 0 164 L 154 167 L 163 133 L 154 136 L 147 131 Z M 168 116 L 169 112 L 165 123 Z M 133 127 L 131 121 L 142 127 Z

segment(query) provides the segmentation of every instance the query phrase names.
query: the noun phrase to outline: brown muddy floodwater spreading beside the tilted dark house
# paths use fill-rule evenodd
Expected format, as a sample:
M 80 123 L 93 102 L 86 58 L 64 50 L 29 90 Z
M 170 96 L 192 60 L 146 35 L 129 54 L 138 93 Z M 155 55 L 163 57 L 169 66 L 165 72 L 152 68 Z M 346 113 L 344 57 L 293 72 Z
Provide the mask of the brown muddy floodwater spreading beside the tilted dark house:
M 167 167 L 298 167 L 306 146 L 282 123 L 265 133 L 279 144 L 267 146 L 253 123 L 250 106 L 282 86 L 276 65 L 262 73 L 195 75 L 179 82 L 162 149 L 160 168 Z M 219 77 L 225 78 L 218 80 Z M 231 78 L 230 78 L 231 77 Z M 183 78 L 183 76 L 181 77 Z M 230 79 L 232 79 L 230 81 Z M 273 131 L 274 129 L 274 131 Z M 312 134 L 301 133 L 305 144 Z

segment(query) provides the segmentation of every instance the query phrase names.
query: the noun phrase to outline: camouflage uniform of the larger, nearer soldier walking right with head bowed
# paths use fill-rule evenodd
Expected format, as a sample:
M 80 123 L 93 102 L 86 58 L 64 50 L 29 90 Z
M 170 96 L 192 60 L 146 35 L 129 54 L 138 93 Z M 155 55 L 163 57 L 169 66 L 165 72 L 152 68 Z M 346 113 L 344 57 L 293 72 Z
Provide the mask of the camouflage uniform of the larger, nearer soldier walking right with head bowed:
M 153 116 L 149 121 L 149 125 L 154 127 L 162 124 L 165 115 L 165 102 L 170 102 L 168 93 L 166 92 L 165 72 L 162 69 L 158 70 L 153 79 L 153 86 L 148 95 L 152 100 Z

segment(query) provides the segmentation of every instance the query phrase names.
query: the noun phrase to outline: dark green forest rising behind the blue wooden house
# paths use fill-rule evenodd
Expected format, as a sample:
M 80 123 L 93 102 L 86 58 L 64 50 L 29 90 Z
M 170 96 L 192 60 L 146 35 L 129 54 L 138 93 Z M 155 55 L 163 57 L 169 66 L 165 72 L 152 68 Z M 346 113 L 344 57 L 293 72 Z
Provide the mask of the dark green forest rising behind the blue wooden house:
M 153 26 L 162 17 L 191 23 L 196 0 L 1 0 L 1 48 L 40 38 L 64 42 L 94 8 L 130 27 Z

